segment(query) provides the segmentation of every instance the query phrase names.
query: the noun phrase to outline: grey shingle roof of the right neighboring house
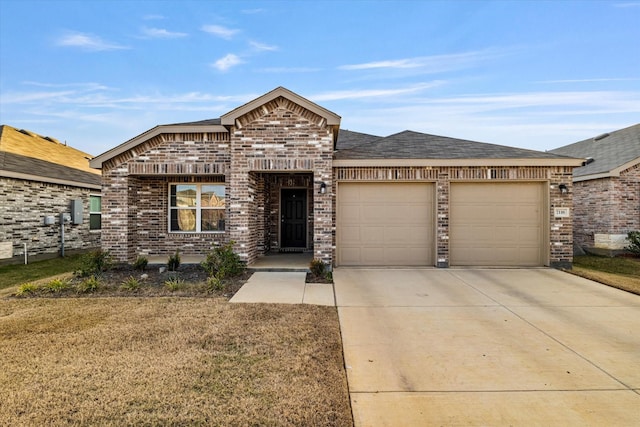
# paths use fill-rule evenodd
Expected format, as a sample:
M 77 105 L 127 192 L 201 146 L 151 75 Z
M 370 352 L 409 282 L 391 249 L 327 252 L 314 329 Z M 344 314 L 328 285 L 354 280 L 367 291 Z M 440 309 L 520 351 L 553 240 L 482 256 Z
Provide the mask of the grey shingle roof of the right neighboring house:
M 551 150 L 565 156 L 591 158 L 573 170 L 576 181 L 619 176 L 640 163 L 640 123 Z

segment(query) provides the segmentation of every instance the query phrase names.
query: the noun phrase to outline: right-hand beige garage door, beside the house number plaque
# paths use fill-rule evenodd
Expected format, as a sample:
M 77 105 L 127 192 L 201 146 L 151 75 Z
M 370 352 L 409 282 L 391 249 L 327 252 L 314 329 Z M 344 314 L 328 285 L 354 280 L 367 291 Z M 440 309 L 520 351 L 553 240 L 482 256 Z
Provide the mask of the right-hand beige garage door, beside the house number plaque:
M 452 183 L 451 265 L 541 266 L 544 183 Z

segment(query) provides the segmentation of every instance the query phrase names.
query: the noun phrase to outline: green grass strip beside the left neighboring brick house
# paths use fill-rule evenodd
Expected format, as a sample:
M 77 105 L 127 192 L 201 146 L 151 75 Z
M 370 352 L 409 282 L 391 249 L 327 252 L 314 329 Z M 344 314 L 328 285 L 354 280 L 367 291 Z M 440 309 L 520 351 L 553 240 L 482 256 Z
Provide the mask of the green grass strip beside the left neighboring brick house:
M 0 267 L 0 289 L 76 270 L 82 255 Z

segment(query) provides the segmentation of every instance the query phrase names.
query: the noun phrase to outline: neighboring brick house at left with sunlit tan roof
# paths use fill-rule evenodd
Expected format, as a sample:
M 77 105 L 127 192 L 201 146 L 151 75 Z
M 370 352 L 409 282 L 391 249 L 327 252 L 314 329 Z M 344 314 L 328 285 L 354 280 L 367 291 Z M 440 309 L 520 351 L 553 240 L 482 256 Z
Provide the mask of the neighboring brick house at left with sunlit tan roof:
M 0 263 L 100 247 L 100 174 L 89 154 L 0 126 Z M 79 201 L 79 202 L 78 202 Z M 72 212 L 75 207 L 77 212 Z M 60 214 L 69 214 L 64 227 Z

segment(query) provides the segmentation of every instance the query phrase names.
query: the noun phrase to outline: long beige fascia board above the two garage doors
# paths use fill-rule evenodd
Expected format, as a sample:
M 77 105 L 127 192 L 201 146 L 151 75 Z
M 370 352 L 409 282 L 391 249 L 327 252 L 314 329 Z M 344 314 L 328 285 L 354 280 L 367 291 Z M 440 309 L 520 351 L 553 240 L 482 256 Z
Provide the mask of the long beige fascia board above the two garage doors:
M 581 166 L 584 159 L 338 159 L 334 167 L 376 166 Z

